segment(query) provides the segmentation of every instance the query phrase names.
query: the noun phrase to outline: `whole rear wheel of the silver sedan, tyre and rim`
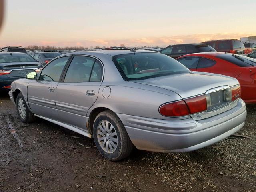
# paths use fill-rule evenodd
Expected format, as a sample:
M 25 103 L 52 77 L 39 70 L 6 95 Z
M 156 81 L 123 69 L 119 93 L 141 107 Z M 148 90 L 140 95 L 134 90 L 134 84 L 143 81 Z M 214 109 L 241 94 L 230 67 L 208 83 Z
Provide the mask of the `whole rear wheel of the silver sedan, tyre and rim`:
M 110 110 L 96 116 L 93 138 L 100 154 L 112 161 L 128 157 L 134 147 L 122 121 Z

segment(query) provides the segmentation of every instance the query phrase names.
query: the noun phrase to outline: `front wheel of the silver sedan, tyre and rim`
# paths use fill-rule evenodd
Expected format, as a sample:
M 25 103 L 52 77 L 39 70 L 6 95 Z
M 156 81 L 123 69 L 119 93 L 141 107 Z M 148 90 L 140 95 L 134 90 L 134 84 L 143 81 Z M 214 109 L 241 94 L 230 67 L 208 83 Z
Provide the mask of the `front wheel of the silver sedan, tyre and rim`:
M 16 108 L 17 108 L 18 116 L 22 122 L 30 123 L 36 119 L 34 114 L 30 112 L 30 110 L 28 109 L 28 106 L 25 102 L 25 99 L 22 93 L 19 93 L 16 98 Z

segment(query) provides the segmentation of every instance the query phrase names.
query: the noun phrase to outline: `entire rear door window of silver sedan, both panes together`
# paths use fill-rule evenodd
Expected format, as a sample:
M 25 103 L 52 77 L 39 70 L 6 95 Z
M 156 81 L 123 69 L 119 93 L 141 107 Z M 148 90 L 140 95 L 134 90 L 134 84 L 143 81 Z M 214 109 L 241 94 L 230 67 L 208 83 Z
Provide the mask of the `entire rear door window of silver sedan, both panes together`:
M 101 81 L 102 65 L 94 58 L 75 56 L 68 67 L 64 82 Z

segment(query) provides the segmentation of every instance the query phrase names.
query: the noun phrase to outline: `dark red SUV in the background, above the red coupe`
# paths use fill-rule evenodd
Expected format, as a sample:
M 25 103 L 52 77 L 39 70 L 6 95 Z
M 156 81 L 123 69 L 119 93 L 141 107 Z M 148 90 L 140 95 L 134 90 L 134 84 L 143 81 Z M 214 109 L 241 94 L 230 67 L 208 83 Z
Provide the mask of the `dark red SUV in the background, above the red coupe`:
M 222 40 L 212 40 L 202 43 L 208 43 L 217 52 L 227 52 L 234 54 L 248 54 L 251 52 L 250 49 L 246 49 L 242 41 L 237 39 L 222 39 Z

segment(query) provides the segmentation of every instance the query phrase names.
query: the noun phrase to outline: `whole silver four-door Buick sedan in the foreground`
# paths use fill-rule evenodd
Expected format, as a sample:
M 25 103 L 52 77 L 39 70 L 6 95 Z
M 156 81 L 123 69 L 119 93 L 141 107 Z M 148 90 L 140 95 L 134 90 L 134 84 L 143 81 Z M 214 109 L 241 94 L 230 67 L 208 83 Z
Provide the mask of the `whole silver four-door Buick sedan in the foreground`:
M 235 78 L 191 72 L 164 54 L 138 50 L 73 52 L 12 83 L 22 122 L 35 116 L 93 138 L 109 160 L 134 146 L 188 152 L 244 126 Z

